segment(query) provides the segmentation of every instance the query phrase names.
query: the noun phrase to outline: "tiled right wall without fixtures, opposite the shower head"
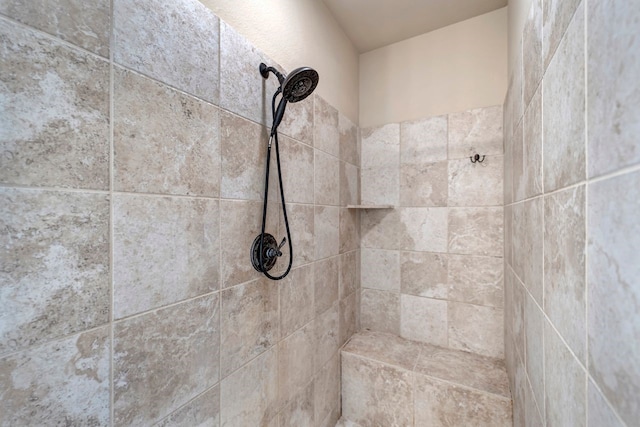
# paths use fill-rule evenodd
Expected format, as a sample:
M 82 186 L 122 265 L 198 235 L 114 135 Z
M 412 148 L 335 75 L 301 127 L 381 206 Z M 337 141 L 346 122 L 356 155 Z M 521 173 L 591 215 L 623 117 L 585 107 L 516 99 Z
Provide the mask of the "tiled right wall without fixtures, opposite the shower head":
M 533 0 L 505 101 L 516 426 L 640 419 L 640 3 Z

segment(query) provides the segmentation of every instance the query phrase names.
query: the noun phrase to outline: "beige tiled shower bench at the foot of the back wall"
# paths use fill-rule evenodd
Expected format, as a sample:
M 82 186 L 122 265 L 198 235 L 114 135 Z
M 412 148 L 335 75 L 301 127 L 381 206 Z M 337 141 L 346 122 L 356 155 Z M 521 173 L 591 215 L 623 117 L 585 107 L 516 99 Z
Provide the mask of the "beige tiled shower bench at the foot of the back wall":
M 504 361 L 363 331 L 342 350 L 343 427 L 512 426 Z

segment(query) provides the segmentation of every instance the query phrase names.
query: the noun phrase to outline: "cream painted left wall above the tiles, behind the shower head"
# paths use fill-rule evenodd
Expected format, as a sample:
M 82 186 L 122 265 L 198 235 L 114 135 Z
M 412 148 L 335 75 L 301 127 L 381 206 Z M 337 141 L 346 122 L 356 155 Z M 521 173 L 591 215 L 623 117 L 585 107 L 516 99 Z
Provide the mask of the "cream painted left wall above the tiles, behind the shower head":
M 316 92 L 357 123 L 358 52 L 323 2 L 200 1 L 286 70 L 315 68 Z

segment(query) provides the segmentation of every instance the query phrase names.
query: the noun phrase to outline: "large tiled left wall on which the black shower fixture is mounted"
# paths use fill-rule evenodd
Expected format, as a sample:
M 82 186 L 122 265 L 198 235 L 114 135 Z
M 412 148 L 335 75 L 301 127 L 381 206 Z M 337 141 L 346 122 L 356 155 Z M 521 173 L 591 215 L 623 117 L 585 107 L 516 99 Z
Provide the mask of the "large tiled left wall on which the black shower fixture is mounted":
M 249 260 L 268 58 L 195 0 L 0 14 L 0 425 L 333 426 L 357 127 L 319 97 L 289 105 L 295 262 L 269 281 Z

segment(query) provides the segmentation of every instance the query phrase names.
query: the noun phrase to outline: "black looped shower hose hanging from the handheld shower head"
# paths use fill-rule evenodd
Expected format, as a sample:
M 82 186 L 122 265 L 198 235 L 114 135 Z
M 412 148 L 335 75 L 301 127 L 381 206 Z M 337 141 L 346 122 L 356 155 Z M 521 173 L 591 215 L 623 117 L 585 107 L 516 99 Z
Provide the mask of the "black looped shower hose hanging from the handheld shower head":
M 271 100 L 271 114 L 273 120 L 276 118 L 276 97 L 282 90 L 278 88 L 275 94 L 273 94 L 273 99 Z M 286 102 L 286 101 L 283 101 Z M 289 219 L 287 218 L 287 205 L 284 200 L 284 188 L 282 187 L 282 168 L 280 167 L 280 147 L 278 145 L 278 127 L 279 123 L 273 124 L 273 129 L 271 130 L 271 136 L 269 137 L 269 144 L 267 147 L 267 172 L 264 181 L 264 202 L 262 206 L 262 231 L 260 232 L 260 270 L 262 273 L 267 276 L 271 280 L 281 280 L 284 279 L 289 271 L 291 271 L 291 265 L 293 264 L 293 244 L 291 243 L 291 231 L 289 230 Z M 272 276 L 269 272 L 264 268 L 264 231 L 267 223 L 267 204 L 268 204 L 268 196 L 269 196 L 269 166 L 271 164 L 271 140 L 275 142 L 276 146 L 276 165 L 278 166 L 278 183 L 280 185 L 280 200 L 282 201 L 282 215 L 284 217 L 284 225 L 287 229 L 287 240 L 289 241 L 289 266 L 287 270 L 280 276 Z

